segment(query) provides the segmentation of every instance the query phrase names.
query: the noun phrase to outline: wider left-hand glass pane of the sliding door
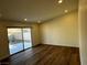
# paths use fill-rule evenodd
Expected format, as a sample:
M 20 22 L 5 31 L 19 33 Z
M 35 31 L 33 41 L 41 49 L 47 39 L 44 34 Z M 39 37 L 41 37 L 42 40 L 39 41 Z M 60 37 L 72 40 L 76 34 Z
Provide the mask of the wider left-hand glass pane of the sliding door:
M 23 50 L 21 29 L 8 29 L 8 37 L 10 54 L 14 54 Z

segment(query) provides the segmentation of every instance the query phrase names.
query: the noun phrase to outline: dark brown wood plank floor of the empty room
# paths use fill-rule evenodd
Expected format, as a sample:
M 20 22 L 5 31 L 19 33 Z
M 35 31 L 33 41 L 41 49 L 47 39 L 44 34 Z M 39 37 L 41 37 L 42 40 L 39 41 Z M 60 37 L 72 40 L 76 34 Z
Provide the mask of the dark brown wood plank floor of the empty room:
M 79 48 L 39 45 L 6 58 L 0 65 L 80 65 Z

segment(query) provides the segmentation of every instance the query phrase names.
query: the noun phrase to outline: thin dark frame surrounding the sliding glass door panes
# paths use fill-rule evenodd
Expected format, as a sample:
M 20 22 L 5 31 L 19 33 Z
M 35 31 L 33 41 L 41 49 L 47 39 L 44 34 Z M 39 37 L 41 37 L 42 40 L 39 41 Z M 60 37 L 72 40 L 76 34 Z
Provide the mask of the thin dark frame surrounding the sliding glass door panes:
M 7 37 L 8 37 L 8 29 L 31 29 L 31 43 L 32 43 L 32 46 L 33 46 L 33 35 L 32 35 L 32 26 L 7 26 Z M 23 40 L 23 31 L 22 31 L 22 42 L 23 42 L 23 50 L 22 51 L 20 51 L 20 52 L 23 52 L 23 51 L 25 51 L 25 50 L 28 50 L 28 48 L 24 48 L 24 40 Z M 31 46 L 31 47 L 32 47 Z M 9 47 L 9 39 L 8 39 L 8 47 Z M 30 48 L 30 47 L 29 47 Z M 14 53 L 14 54 L 10 54 L 10 48 L 9 48 L 9 54 L 10 55 L 15 55 L 15 54 L 18 54 L 18 53 L 20 53 L 20 52 L 17 52 L 17 53 Z

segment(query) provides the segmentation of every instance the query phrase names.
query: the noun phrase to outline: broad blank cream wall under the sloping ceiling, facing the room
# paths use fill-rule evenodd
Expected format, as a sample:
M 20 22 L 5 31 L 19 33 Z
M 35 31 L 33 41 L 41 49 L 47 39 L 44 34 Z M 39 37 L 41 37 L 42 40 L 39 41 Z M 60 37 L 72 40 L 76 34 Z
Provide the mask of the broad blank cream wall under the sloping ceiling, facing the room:
M 40 25 L 43 44 L 78 46 L 78 12 L 46 21 Z

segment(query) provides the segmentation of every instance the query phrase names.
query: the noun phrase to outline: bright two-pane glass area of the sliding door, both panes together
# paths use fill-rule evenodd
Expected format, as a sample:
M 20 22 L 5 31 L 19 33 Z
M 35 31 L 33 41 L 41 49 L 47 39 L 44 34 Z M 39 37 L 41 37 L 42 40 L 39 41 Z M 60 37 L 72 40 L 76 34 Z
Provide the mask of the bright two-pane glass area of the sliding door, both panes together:
M 8 28 L 8 40 L 10 55 L 32 47 L 30 28 Z

